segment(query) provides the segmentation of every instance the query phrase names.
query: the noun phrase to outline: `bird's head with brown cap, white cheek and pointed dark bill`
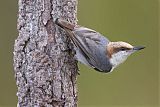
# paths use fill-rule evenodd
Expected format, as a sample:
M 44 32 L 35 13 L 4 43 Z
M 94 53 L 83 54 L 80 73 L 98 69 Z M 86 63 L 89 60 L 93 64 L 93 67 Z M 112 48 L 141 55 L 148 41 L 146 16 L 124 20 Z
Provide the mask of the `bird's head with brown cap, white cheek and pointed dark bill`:
M 113 69 L 123 63 L 132 53 L 144 49 L 143 46 L 132 46 L 126 42 L 110 42 L 107 45 L 107 56 Z

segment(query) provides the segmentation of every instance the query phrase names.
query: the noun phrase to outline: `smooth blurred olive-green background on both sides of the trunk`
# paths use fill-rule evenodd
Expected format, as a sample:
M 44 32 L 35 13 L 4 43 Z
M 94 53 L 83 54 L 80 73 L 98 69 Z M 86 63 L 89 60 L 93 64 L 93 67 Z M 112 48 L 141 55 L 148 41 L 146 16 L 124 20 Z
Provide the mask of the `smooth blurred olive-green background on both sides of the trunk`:
M 0 107 L 16 107 L 12 66 L 17 1 L 0 1 Z M 78 23 L 147 48 L 103 74 L 80 65 L 79 107 L 159 107 L 158 0 L 79 0 Z

